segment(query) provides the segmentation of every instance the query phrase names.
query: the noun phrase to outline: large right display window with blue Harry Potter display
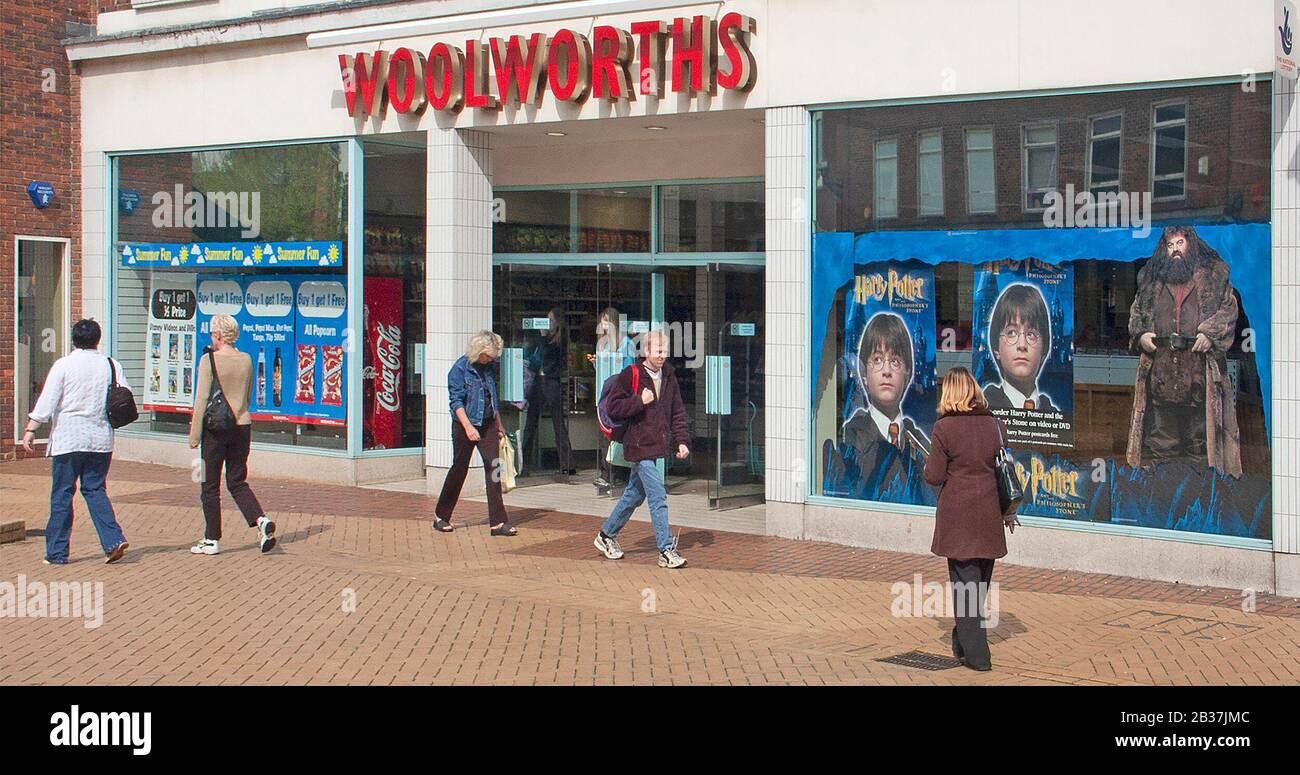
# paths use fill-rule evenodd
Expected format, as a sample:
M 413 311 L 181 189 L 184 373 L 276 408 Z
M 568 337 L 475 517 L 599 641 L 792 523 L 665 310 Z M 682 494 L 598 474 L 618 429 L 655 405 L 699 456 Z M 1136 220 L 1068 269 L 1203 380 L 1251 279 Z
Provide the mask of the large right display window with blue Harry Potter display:
M 1269 99 L 815 113 L 812 495 L 933 506 L 937 385 L 965 365 L 1022 515 L 1268 540 Z

